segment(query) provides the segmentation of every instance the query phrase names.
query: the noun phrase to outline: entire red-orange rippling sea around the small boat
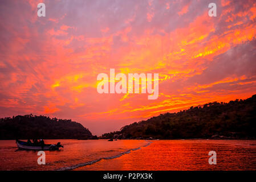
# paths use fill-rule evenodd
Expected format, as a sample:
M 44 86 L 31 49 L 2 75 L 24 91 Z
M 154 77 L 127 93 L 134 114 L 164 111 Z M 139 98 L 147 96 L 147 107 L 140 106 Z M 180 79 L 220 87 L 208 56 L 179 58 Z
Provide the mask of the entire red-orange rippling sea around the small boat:
M 0 170 L 256 170 L 256 140 L 46 140 L 60 151 L 18 150 L 0 140 Z M 209 164 L 216 151 L 217 164 Z

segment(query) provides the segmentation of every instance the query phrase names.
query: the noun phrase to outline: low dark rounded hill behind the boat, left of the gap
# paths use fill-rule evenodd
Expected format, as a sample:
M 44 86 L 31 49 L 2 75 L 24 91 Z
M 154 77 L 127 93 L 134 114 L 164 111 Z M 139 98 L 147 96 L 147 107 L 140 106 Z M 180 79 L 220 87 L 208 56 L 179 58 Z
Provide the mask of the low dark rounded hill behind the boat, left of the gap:
M 91 139 L 95 137 L 83 125 L 71 119 L 32 114 L 0 119 L 0 139 Z

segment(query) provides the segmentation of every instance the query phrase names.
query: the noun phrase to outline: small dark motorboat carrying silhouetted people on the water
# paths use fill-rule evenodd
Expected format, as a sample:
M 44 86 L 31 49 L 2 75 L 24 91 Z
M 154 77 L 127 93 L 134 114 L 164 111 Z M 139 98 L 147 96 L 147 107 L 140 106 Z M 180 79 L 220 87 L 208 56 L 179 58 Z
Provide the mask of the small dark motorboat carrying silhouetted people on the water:
M 16 140 L 16 144 L 19 149 L 21 150 L 59 150 L 60 147 L 63 147 L 60 142 L 57 144 L 44 144 L 44 146 L 33 146 L 31 144 L 28 144 L 27 142 L 23 142 L 21 140 Z

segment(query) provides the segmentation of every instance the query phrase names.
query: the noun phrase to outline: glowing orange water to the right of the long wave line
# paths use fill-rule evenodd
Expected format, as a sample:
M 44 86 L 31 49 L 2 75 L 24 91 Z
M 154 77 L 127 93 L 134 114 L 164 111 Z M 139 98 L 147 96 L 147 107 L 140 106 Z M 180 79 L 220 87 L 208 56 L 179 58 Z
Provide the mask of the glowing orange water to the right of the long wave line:
M 217 152 L 210 165 L 209 151 Z M 256 140 L 156 140 L 120 158 L 76 170 L 255 170 Z

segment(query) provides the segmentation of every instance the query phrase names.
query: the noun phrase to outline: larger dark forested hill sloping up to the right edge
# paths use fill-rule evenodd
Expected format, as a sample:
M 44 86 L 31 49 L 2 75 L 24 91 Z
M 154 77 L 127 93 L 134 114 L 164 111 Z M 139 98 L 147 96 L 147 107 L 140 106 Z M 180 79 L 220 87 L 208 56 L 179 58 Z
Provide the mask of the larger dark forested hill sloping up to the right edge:
M 114 136 L 115 135 L 115 136 Z M 213 102 L 178 113 L 160 114 L 124 126 L 101 138 L 255 138 L 256 95 L 229 103 Z

